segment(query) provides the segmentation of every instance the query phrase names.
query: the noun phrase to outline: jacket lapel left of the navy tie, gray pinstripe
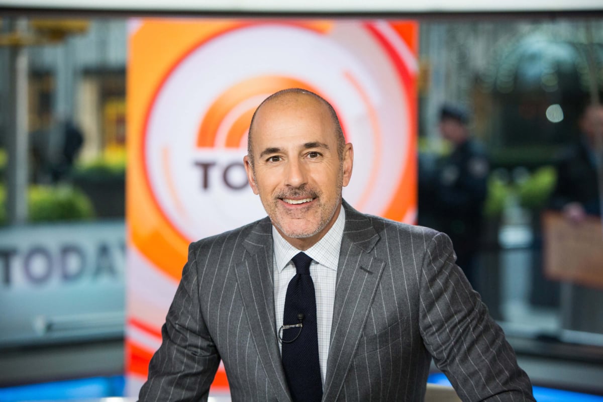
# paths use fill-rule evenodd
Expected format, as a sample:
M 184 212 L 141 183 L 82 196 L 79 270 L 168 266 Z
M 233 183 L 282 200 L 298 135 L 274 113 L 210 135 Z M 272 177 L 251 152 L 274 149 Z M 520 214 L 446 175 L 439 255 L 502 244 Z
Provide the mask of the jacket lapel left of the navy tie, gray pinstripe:
M 259 359 L 279 401 L 291 401 L 280 360 L 274 328 L 273 240 L 270 219 L 262 219 L 244 240 L 248 257 L 236 265 L 243 298 Z

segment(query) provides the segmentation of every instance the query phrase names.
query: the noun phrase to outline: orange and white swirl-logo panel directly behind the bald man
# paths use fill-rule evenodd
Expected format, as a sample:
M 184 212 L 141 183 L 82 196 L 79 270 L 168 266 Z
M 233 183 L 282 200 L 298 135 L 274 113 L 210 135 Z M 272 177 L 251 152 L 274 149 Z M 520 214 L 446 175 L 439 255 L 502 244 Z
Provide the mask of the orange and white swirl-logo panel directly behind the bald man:
M 265 216 L 243 156 L 253 111 L 302 87 L 355 149 L 344 198 L 416 216 L 417 25 L 383 20 L 131 20 L 127 71 L 127 371 L 147 376 L 190 242 Z M 221 369 L 213 389 L 227 387 Z

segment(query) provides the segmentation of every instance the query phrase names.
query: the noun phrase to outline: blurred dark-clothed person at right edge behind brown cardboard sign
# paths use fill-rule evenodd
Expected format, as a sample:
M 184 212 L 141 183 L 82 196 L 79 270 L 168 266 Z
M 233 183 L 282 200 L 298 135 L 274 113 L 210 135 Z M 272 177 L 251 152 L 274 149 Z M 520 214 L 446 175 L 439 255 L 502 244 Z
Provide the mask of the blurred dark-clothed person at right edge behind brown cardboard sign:
M 603 135 L 603 105 L 587 104 L 578 125 L 577 141 L 557 162 L 557 184 L 551 196 L 551 207 L 574 223 L 584 221 L 587 215 L 601 216 L 597 169 L 603 155 L 596 151 L 596 136 Z

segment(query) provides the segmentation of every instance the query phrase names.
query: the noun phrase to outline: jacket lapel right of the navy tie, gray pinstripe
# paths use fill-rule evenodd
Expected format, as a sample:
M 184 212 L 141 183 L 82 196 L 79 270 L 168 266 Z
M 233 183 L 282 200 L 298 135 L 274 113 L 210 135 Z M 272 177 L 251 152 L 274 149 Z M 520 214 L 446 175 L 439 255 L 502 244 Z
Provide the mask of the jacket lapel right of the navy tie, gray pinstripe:
M 379 235 L 370 220 L 345 201 L 344 207 L 346 227 L 339 253 L 323 401 L 335 401 L 341 391 L 385 266 L 371 254 Z

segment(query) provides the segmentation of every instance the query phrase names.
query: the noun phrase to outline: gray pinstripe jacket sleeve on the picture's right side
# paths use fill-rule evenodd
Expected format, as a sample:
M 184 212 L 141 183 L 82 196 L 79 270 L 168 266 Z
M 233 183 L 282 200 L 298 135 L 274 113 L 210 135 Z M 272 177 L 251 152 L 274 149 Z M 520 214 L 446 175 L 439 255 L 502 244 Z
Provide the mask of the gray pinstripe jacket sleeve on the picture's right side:
M 502 328 L 455 264 L 452 242 L 426 240 L 420 279 L 421 336 L 463 401 L 534 401 Z

